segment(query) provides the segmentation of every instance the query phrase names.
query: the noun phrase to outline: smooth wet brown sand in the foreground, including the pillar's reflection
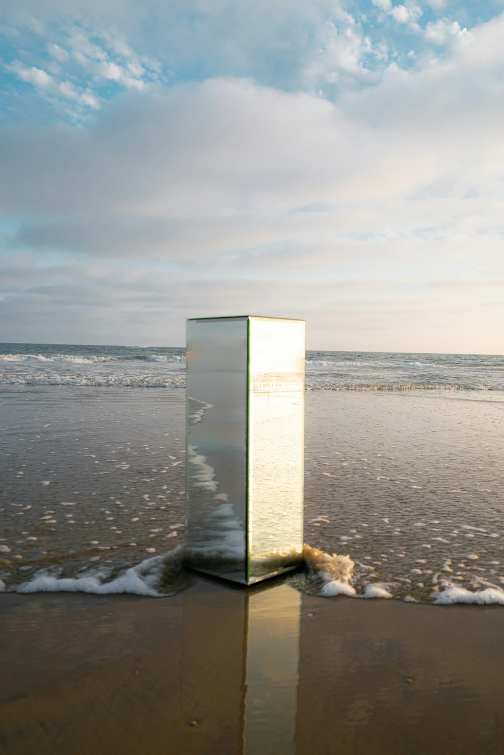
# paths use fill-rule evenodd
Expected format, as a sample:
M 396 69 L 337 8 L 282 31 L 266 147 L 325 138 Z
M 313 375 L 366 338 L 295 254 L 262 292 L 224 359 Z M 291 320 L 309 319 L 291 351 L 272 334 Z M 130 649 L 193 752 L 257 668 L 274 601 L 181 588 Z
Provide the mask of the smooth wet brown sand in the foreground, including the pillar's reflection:
M 501 753 L 504 612 L 323 599 L 0 595 L 0 752 Z

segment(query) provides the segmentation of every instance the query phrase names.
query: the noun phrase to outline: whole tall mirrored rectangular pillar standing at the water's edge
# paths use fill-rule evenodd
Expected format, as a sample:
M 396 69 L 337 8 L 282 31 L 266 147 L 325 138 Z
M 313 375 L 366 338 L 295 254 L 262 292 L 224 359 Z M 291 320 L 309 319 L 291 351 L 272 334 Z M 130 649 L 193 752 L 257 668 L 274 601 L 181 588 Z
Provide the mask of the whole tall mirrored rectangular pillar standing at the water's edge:
M 252 584 L 302 562 L 305 322 L 187 320 L 186 563 Z

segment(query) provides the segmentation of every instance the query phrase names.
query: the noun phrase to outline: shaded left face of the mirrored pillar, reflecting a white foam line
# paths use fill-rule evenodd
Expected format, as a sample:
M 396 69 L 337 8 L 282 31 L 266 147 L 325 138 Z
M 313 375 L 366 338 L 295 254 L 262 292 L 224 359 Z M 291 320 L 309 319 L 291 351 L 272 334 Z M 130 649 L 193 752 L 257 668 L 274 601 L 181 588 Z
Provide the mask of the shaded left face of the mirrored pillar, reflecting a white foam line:
M 187 321 L 186 558 L 246 582 L 247 318 Z

